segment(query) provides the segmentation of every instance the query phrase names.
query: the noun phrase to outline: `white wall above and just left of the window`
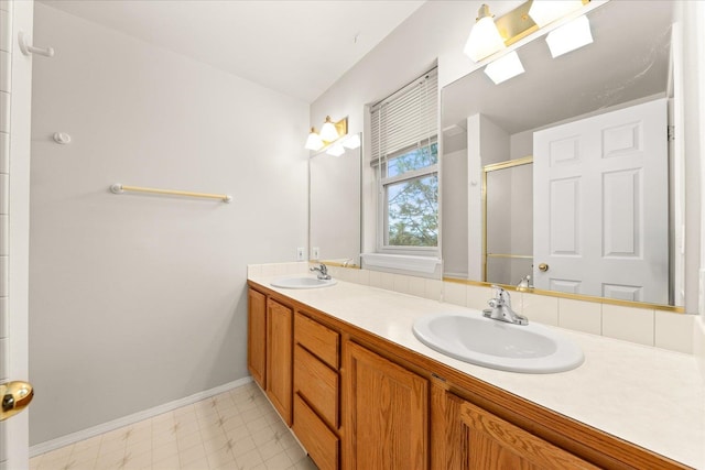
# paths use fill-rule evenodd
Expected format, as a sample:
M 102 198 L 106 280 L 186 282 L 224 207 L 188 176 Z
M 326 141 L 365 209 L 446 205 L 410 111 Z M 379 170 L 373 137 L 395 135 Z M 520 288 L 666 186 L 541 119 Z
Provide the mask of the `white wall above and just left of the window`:
M 386 98 L 436 63 L 443 65 L 438 69 L 440 87 L 475 68 L 475 63 L 463 54 L 463 47 L 481 3 L 476 0 L 424 3 L 311 105 L 311 125 L 319 127 L 328 114 L 334 119 L 349 116 L 349 132 L 368 131 L 364 132 L 364 139 L 368 140 L 366 105 Z M 494 2 L 492 13 L 501 15 L 521 3 Z M 371 184 L 373 172 L 366 162 L 362 165 L 362 249 L 373 251 L 376 220 L 370 209 L 376 204 L 376 188 Z

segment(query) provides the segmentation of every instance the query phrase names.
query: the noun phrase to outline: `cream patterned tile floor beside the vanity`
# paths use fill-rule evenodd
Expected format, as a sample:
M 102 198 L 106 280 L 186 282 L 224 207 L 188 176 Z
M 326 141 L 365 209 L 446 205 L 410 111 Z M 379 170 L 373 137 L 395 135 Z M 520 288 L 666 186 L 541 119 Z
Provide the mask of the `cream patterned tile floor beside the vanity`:
M 252 382 L 30 460 L 30 470 L 315 470 Z

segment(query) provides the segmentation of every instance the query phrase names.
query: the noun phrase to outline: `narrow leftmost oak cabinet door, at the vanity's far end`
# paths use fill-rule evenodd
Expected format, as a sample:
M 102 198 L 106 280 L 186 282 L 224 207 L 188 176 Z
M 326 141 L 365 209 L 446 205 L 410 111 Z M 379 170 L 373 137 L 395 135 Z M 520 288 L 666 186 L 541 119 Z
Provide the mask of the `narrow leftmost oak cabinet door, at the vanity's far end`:
M 267 387 L 267 296 L 249 289 L 247 315 L 247 368 L 262 389 Z

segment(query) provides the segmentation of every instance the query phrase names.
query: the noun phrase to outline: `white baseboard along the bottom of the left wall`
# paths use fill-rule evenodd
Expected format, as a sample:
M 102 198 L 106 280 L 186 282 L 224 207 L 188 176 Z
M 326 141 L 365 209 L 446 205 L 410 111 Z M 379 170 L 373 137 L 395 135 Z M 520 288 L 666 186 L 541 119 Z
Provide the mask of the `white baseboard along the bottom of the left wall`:
M 66 436 L 57 437 L 56 439 L 37 444 L 35 446 L 30 447 L 30 458 L 41 456 L 42 453 L 56 450 L 61 447 L 70 446 L 72 444 L 76 444 L 80 440 L 89 439 L 91 437 L 95 437 L 105 433 L 109 433 L 111 430 L 116 430 L 121 427 L 129 426 L 134 423 L 139 423 L 144 419 L 153 418 L 154 416 L 159 416 L 163 413 L 167 413 L 176 408 L 181 408 L 182 406 L 192 405 L 196 402 L 200 402 L 202 400 L 206 400 L 212 396 L 218 395 L 220 393 L 227 392 L 229 390 L 237 389 L 238 386 L 246 385 L 250 382 L 252 382 L 251 376 L 238 379 L 234 382 L 228 382 L 226 384 L 216 386 L 215 389 L 206 390 L 204 392 L 198 392 L 194 395 L 186 396 L 184 398 L 180 398 L 174 402 L 164 403 L 163 405 L 159 405 L 150 409 L 144 409 L 142 412 L 123 416 L 121 418 L 113 419 L 111 422 L 104 423 L 98 426 L 89 427 L 87 429 L 83 429 L 77 433 L 67 434 Z

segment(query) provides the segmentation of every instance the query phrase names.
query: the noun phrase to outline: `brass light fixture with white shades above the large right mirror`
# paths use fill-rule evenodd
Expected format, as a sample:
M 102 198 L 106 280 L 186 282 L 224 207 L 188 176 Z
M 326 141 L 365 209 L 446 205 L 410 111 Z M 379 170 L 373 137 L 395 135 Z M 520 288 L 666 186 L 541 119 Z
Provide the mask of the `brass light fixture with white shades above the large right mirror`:
M 480 62 L 539 29 L 573 14 L 589 2 L 590 0 L 527 0 L 496 19 L 489 12 L 489 7 L 482 4 L 463 51 L 473 61 Z

